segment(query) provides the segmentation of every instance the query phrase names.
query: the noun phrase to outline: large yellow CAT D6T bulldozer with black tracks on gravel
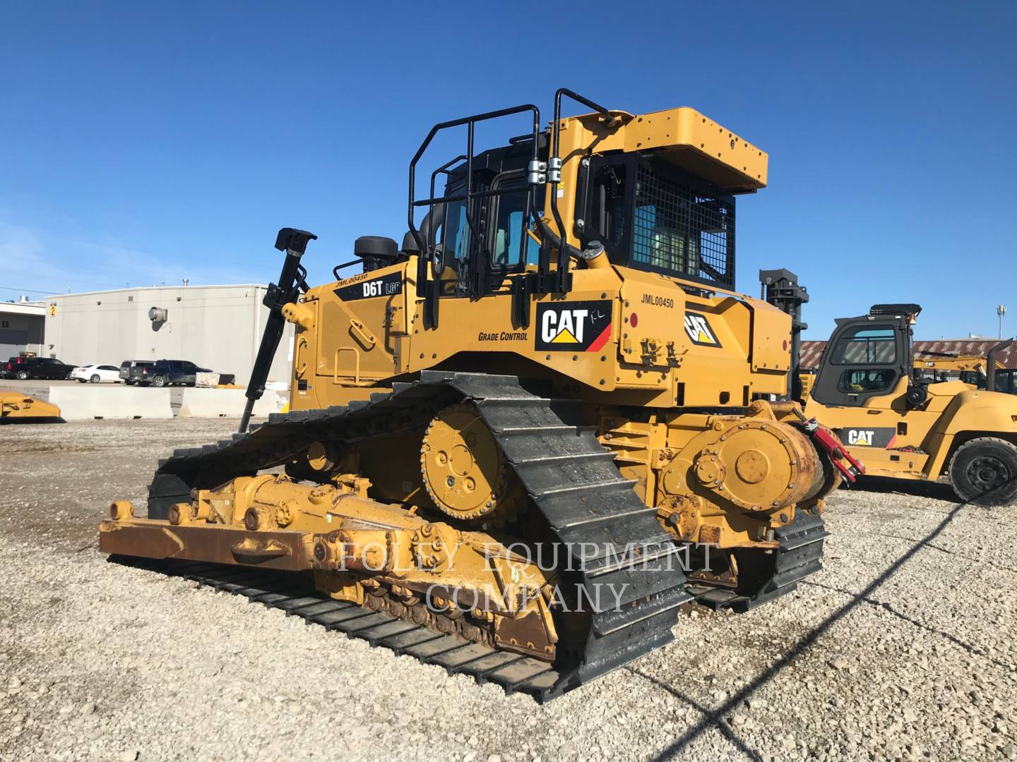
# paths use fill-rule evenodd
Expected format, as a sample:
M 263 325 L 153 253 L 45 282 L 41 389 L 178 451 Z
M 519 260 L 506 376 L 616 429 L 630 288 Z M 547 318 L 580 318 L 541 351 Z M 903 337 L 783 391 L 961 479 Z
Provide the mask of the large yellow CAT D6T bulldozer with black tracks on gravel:
M 359 238 L 310 288 L 315 236 L 280 231 L 240 432 L 161 461 L 101 548 L 541 700 L 670 641 L 686 604 L 794 589 L 859 466 L 771 401 L 791 320 L 733 291 L 767 162 L 693 109 L 567 89 L 546 128 L 532 105 L 435 125 L 402 246 Z M 285 321 L 290 409 L 247 431 Z

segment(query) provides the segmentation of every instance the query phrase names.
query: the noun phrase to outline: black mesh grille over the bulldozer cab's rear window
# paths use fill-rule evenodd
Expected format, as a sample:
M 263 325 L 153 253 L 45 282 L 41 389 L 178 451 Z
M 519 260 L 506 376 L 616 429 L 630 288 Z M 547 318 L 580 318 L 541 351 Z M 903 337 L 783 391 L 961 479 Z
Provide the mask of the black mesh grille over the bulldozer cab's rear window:
M 638 166 L 633 261 L 734 288 L 734 205 Z

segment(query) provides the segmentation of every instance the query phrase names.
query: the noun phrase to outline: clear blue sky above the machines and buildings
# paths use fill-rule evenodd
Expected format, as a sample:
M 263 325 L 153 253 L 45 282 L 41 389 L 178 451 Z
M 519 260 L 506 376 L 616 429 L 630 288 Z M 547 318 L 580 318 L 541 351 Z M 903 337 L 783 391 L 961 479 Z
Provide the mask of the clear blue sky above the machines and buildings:
M 525 102 L 546 118 L 564 85 L 634 113 L 693 106 L 769 151 L 770 187 L 739 199 L 737 285 L 796 271 L 806 338 L 898 301 L 924 306 L 919 338 L 995 336 L 1001 303 L 1017 332 L 1017 3 L 0 14 L 0 300 L 265 281 L 283 226 L 319 236 L 305 264 L 323 280 L 358 235 L 402 240 L 433 123 Z

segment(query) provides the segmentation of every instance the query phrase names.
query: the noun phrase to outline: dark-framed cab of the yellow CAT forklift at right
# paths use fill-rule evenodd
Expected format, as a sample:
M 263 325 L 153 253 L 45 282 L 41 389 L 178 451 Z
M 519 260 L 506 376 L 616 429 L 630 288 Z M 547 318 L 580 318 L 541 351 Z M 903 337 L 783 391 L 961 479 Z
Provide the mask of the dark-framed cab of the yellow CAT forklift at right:
M 873 305 L 868 315 L 837 320 L 823 353 L 812 396 L 825 405 L 863 407 L 874 397 L 905 396 L 921 404 L 925 387 L 911 377 L 911 326 L 916 304 Z

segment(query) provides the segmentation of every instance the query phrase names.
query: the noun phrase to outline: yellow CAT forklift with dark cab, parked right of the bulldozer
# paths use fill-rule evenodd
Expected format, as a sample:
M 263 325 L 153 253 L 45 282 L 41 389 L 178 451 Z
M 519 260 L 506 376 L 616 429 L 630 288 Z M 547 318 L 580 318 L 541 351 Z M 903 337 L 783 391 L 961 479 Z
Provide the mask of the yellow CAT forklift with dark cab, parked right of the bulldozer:
M 796 332 L 804 328 L 807 296 L 794 273 L 763 270 L 760 279 L 764 299 L 792 316 Z M 943 479 L 965 502 L 1017 503 L 1017 397 L 999 390 L 1005 377 L 997 360 L 1011 340 L 985 358 L 916 360 L 912 326 L 920 312 L 916 304 L 881 304 L 839 318 L 816 373 L 792 374 L 791 396 L 864 462 L 868 475 Z M 929 378 L 926 369 L 983 373 L 965 383 Z

